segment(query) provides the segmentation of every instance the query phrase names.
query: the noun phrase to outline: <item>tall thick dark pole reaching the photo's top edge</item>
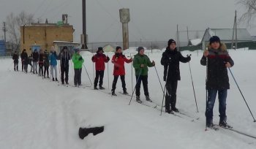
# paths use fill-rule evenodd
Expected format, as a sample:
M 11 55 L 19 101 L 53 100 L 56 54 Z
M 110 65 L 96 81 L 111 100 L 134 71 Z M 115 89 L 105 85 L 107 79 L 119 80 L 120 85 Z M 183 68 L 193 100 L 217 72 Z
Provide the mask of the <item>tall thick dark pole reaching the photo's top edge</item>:
M 86 34 L 86 0 L 82 0 L 82 7 L 83 7 L 83 34 L 81 34 L 82 49 L 88 49 L 87 34 Z

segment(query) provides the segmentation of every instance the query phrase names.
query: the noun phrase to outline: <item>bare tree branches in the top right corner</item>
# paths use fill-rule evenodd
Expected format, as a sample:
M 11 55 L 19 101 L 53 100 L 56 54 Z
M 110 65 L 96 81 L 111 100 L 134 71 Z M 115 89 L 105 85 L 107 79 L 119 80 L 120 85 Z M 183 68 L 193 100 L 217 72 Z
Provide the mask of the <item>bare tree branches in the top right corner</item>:
M 256 0 L 239 0 L 238 4 L 241 4 L 246 9 L 241 18 L 239 18 L 239 22 L 246 21 L 249 24 L 256 17 Z

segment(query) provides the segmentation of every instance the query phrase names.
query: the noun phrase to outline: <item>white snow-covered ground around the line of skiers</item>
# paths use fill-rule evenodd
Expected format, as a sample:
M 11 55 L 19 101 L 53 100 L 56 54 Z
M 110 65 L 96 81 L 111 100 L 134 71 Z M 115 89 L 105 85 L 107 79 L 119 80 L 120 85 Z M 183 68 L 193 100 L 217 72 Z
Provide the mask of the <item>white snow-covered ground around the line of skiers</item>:
M 130 54 L 130 52 L 132 52 Z M 163 67 L 159 64 L 161 50 L 147 53 L 156 61 L 156 68 L 162 80 Z M 134 55 L 135 50 L 125 52 Z M 256 140 L 236 134 L 232 131 L 205 131 L 206 67 L 200 65 L 202 51 L 183 52 L 184 56 L 192 54 L 190 62 L 195 84 L 195 93 L 199 113 L 196 112 L 195 99 L 189 74 L 189 64 L 181 64 L 181 81 L 178 82 L 177 107 L 192 118 L 163 113 L 143 106 L 129 96 L 118 93 L 111 97 L 108 86 L 112 84 L 113 64 L 106 65 L 105 91 L 94 91 L 92 87 L 65 87 L 42 77 L 14 72 L 12 60 L 0 59 L 0 148 L 34 149 L 113 149 L 113 148 L 256 148 Z M 113 53 L 105 53 L 113 56 Z M 230 50 L 235 66 L 232 68 L 246 101 L 256 115 L 256 50 Z M 83 53 L 85 66 L 94 80 L 94 69 L 91 53 Z M 69 66 L 69 83 L 73 84 L 73 70 Z M 109 73 L 108 73 L 109 68 Z M 135 85 L 134 70 L 126 64 L 127 90 L 132 93 Z M 30 70 L 30 67 L 29 67 Z M 59 72 L 58 72 L 59 73 Z M 109 74 L 109 75 L 108 75 Z M 109 82 L 108 82 L 109 77 Z M 85 69 L 82 74 L 83 85 L 90 85 Z M 109 85 L 108 85 L 109 84 Z M 162 89 L 159 85 L 156 70 L 149 69 L 148 86 L 151 99 L 162 104 Z M 230 91 L 227 96 L 228 122 L 234 128 L 256 135 L 256 123 L 239 93 L 230 75 Z M 121 91 L 118 80 L 117 92 Z M 141 88 L 141 98 L 143 89 Z M 196 120 L 196 118 L 199 118 Z M 194 120 L 194 121 L 193 121 Z M 214 123 L 219 122 L 218 102 L 214 107 Z M 79 127 L 105 126 L 102 134 L 89 134 L 84 140 L 78 137 Z

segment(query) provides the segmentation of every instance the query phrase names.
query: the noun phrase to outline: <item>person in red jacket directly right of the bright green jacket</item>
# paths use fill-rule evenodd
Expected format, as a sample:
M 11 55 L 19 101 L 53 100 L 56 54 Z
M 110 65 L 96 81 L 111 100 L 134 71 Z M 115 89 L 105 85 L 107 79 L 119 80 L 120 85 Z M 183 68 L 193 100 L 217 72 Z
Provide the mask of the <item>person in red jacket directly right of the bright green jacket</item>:
M 92 56 L 91 61 L 95 63 L 96 69 L 96 77 L 94 80 L 94 90 L 97 90 L 97 84 L 99 81 L 99 89 L 104 90 L 105 88 L 102 87 L 103 84 L 103 77 L 104 77 L 104 70 L 105 70 L 105 63 L 108 63 L 110 58 L 103 54 L 103 48 L 98 47 L 97 54 Z

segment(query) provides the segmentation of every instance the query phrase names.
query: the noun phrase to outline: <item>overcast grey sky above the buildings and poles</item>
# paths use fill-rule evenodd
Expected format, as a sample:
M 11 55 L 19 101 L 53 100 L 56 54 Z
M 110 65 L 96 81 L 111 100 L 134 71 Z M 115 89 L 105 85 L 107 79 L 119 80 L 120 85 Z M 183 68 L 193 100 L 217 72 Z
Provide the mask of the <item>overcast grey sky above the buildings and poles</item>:
M 130 41 L 166 41 L 176 38 L 176 25 L 180 30 L 200 30 L 206 28 L 232 28 L 235 9 L 238 16 L 243 9 L 236 4 L 238 0 L 87 0 L 87 34 L 89 42 L 121 41 L 120 8 L 130 9 Z M 1 0 L 0 22 L 6 20 L 11 12 L 22 10 L 34 14 L 50 23 L 61 20 L 61 15 L 69 15 L 69 23 L 75 28 L 74 38 L 80 42 L 82 32 L 82 0 Z M 256 35 L 255 27 L 240 24 Z M 202 33 L 201 33 L 202 34 Z M 3 32 L 0 31 L 0 39 Z M 195 35 L 189 34 L 190 38 Z M 187 38 L 187 33 L 180 35 Z

